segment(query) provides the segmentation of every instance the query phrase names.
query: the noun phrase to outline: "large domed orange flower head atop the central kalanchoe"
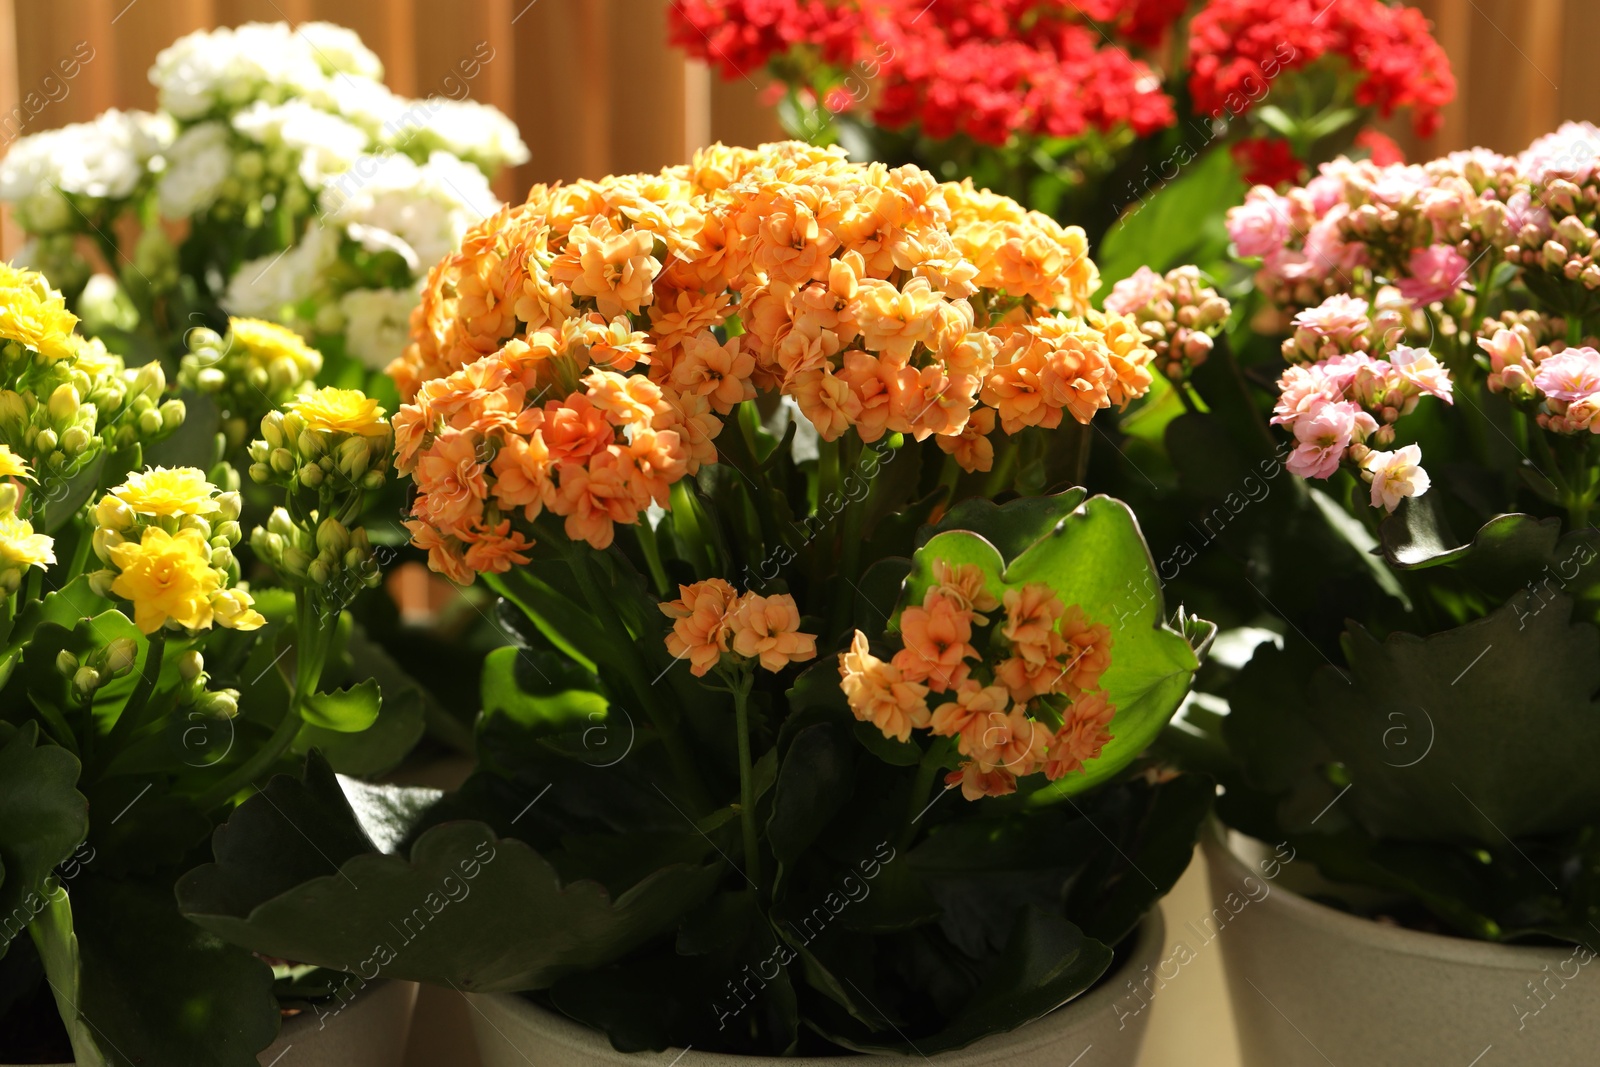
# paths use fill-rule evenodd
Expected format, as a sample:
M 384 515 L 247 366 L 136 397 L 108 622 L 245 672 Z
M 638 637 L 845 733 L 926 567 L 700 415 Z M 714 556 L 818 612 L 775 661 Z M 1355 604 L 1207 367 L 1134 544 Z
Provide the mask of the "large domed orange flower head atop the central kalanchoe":
M 410 530 L 458 581 L 667 507 L 757 390 L 824 440 L 1088 422 L 1150 384 L 1133 318 L 1088 306 L 1083 232 L 914 166 L 798 142 L 653 176 L 538 186 L 429 275 L 390 374 Z

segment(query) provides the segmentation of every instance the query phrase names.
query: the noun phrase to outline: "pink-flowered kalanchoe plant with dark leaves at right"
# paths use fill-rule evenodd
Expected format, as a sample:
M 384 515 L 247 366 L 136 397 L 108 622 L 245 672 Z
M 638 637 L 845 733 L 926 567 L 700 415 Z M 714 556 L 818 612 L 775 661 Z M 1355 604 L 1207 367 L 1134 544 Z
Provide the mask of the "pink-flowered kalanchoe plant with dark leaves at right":
M 1573 125 L 1253 190 L 1238 362 L 1184 382 L 1205 411 L 1170 467 L 1141 458 L 1179 491 L 1163 577 L 1246 638 L 1202 686 L 1230 705 L 1224 817 L 1493 941 L 1587 944 L 1600 915 L 1597 173 Z

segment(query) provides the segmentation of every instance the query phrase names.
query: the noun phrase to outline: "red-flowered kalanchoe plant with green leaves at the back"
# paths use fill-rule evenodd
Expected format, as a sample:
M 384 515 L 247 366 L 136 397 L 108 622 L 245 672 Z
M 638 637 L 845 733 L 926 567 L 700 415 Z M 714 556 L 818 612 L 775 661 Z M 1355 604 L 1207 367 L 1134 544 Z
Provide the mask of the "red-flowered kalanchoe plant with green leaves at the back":
M 1096 243 L 1203 155 L 1206 213 L 1237 203 L 1238 171 L 1298 181 L 1352 144 L 1395 158 L 1373 120 L 1405 109 L 1426 136 L 1456 88 L 1422 14 L 1386 0 L 675 0 L 669 18 L 725 78 L 765 69 L 794 136 L 971 176 Z M 1170 222 L 1163 267 L 1211 229 Z

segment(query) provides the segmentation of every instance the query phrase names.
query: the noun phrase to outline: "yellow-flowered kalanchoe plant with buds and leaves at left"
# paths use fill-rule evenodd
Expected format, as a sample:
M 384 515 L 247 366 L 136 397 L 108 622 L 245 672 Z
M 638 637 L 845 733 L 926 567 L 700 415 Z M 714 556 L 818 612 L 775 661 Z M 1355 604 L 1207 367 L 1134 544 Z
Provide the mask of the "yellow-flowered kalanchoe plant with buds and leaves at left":
M 222 435 L 147 466 L 182 402 L 74 322 L 0 269 L 0 1061 L 245 1067 L 278 1030 L 274 969 L 187 923 L 173 883 L 309 745 L 376 773 L 421 733 L 414 688 L 342 614 L 376 577 L 358 515 L 392 437 L 350 390 L 269 413 L 298 458 L 262 474 L 269 526 L 318 552 L 258 531 L 251 553 Z

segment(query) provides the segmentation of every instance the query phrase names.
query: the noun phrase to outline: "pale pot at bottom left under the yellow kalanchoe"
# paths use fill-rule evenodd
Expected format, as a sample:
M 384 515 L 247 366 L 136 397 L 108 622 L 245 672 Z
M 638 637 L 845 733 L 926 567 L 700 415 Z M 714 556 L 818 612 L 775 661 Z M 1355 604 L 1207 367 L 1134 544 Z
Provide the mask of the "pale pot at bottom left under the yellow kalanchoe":
M 283 1021 L 278 1040 L 258 1056 L 262 1067 L 400 1067 L 411 1032 L 416 982 L 381 982 L 338 1014 L 307 1011 Z M 293 1056 L 288 1056 L 294 1049 Z M 0 1067 L 10 1067 L 0 1064 Z M 48 1064 L 43 1067 L 74 1067 Z

